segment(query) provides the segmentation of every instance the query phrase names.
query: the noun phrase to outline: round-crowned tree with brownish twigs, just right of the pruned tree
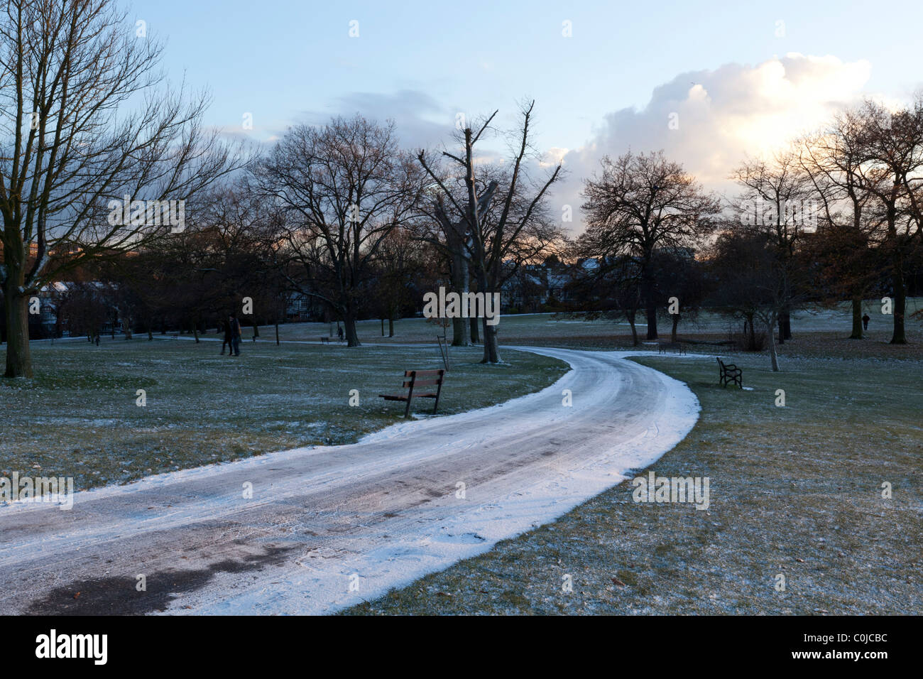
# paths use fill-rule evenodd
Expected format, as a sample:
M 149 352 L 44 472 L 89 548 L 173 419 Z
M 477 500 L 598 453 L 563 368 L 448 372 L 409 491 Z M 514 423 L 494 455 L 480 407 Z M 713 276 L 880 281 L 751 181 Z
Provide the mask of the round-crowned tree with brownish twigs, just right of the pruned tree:
M 647 313 L 647 338 L 657 339 L 658 249 L 693 247 L 713 229 L 719 201 L 705 193 L 664 152 L 605 156 L 602 174 L 584 182 L 586 232 L 581 249 L 596 256 L 629 257 L 638 267 Z

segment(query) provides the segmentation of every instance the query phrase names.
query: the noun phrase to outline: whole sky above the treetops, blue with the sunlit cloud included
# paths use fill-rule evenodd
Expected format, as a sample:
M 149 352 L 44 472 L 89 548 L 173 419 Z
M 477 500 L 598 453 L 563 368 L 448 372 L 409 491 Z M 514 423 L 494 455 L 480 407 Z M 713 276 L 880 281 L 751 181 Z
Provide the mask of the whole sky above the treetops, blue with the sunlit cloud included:
M 707 188 L 745 155 L 863 96 L 923 89 L 923 4 L 893 2 L 294 2 L 123 4 L 165 42 L 168 78 L 208 89 L 205 123 L 271 142 L 299 123 L 393 119 L 402 143 L 450 143 L 459 114 L 535 100 L 537 150 L 568 169 L 554 201 L 580 224 L 604 154 L 664 149 Z M 252 128 L 244 129 L 245 115 Z M 498 147 L 499 148 L 499 147 Z

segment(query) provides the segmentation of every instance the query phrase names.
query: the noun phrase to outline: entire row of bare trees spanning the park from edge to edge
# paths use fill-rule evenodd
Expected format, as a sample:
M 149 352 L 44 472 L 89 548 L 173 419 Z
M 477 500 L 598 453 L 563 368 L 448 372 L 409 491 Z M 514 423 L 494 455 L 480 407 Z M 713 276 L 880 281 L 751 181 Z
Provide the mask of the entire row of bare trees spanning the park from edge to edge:
M 0 14 L 7 377 L 31 375 L 27 306 L 56 281 L 112 284 L 126 327 L 149 333 L 170 323 L 198 332 L 245 297 L 258 300 L 253 321 L 278 322 L 297 293 L 342 319 L 358 346 L 364 316 L 393 332 L 425 289 L 490 296 L 556 252 L 595 262 L 575 276 L 594 310 L 624 314 L 633 333 L 640 311 L 649 339 L 671 299 L 674 338 L 681 315 L 712 304 L 751 333 L 777 324 L 785 341 L 792 311 L 843 297 L 860 337 L 861 300 L 884 268 L 892 342 L 906 342 L 923 99 L 896 113 L 863 103 L 770 159 L 746 160 L 733 200 L 663 152 L 605 157 L 585 181 L 586 231 L 562 249 L 548 197 L 563 169 L 533 148 L 533 102 L 512 128 L 498 128 L 495 112 L 436 152 L 402 149 L 393 124 L 355 115 L 292 127 L 251 157 L 204 131 L 206 96 L 167 93 L 160 44 L 132 28 L 110 0 L 7 0 Z M 162 220 L 164 201 L 188 201 L 186 217 Z M 716 278 L 724 294 L 706 285 Z M 500 360 L 486 318 L 451 322 L 453 344 L 480 334 L 484 361 Z

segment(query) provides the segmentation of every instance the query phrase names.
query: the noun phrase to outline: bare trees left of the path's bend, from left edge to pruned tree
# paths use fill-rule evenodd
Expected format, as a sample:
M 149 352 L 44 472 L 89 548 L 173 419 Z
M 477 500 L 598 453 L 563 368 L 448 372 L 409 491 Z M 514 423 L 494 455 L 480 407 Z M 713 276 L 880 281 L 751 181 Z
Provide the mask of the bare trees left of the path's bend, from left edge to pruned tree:
M 121 281 L 119 289 L 135 281 L 125 313 L 149 327 L 174 309 L 198 328 L 226 297 L 258 287 L 246 270 L 271 279 L 262 287 L 320 300 L 356 346 L 371 281 L 390 291 L 375 302 L 390 321 L 406 303 L 408 278 L 427 269 L 445 270 L 459 289 L 470 277 L 496 291 L 502 262 L 542 231 L 533 224 L 544 219 L 559 167 L 529 194 L 532 104 L 509 170 L 475 168 L 474 142 L 496 132 L 489 120 L 476 134 L 465 130 L 461 155 L 440 157 L 463 172 L 400 149 L 393 125 L 360 116 L 293 127 L 248 160 L 201 125 L 206 95 L 168 90 L 161 44 L 134 28 L 111 0 L 7 0 L 0 12 L 7 377 L 31 376 L 30 298 L 82 273 Z M 233 188 L 219 187 L 231 176 Z M 485 181 L 491 188 L 481 195 Z M 188 219 L 162 220 L 167 201 Z M 438 239 L 445 266 L 417 247 L 434 233 L 423 225 L 433 208 L 421 206 L 440 204 L 439 218 L 452 224 Z M 485 360 L 497 361 L 494 329 L 484 334 Z

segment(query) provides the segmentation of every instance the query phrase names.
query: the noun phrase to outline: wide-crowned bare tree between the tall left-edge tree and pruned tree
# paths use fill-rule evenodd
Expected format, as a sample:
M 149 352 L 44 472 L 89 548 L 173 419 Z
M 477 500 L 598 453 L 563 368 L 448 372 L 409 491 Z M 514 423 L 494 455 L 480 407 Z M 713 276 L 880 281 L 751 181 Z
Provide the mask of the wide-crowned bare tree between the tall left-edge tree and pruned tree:
M 381 243 L 414 217 L 423 190 L 393 123 L 356 115 L 293 127 L 252 174 L 282 213 L 290 283 L 336 309 L 349 346 L 359 346 L 355 322 Z

